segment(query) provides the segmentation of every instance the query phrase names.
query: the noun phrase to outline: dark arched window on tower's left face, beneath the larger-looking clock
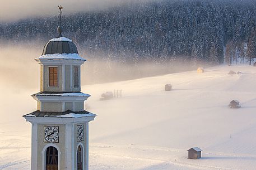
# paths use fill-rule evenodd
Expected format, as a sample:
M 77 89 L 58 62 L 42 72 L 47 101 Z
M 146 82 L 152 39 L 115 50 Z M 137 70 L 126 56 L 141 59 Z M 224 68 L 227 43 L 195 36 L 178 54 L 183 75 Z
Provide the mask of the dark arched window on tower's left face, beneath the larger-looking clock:
M 58 150 L 49 147 L 46 150 L 46 170 L 58 170 Z

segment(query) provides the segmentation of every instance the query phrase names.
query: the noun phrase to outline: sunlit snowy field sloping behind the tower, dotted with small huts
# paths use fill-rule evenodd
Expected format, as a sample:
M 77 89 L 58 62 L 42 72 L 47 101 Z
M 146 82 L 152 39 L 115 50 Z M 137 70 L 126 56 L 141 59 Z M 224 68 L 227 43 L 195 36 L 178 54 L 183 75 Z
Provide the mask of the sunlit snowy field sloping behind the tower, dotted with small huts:
M 90 123 L 90 169 L 256 169 L 255 77 L 252 66 L 218 66 L 83 86 L 92 95 L 87 110 L 98 115 Z M 35 110 L 29 95 L 36 88 L 1 86 L 1 94 L 10 93 L 0 97 L 0 169 L 30 169 L 31 127 L 21 116 Z M 99 100 L 114 90 L 123 97 Z M 240 109 L 229 109 L 233 99 Z M 187 159 L 191 147 L 203 149 L 202 159 Z

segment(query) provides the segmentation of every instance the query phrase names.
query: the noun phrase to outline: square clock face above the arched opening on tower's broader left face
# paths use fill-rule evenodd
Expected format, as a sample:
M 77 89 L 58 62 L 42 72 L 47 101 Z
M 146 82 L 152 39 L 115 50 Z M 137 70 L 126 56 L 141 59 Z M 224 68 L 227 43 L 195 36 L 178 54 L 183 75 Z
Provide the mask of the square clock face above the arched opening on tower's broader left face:
M 59 142 L 59 127 L 44 127 L 44 142 L 58 143 Z

